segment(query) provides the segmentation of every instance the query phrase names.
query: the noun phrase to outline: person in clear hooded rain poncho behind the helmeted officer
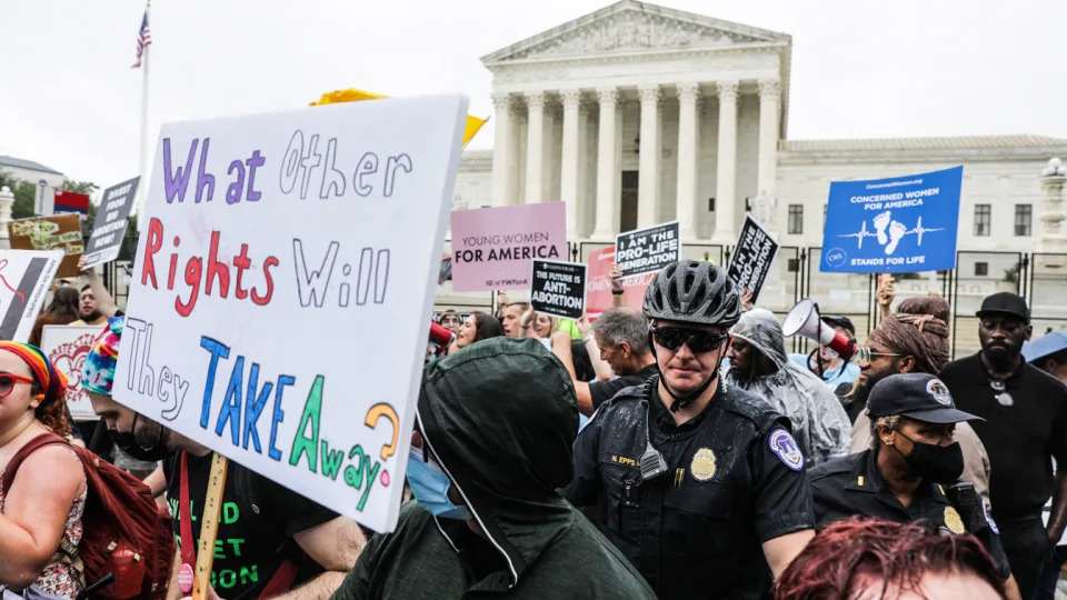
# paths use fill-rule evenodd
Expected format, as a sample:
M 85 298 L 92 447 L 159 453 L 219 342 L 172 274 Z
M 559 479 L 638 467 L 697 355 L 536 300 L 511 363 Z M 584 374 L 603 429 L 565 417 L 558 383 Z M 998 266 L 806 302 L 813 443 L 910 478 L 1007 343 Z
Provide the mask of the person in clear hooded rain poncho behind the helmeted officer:
M 851 431 L 841 402 L 822 381 L 789 360 L 786 338 L 772 312 L 754 309 L 730 331 L 734 343 L 726 382 L 770 402 L 789 418 L 809 464 L 848 453 Z

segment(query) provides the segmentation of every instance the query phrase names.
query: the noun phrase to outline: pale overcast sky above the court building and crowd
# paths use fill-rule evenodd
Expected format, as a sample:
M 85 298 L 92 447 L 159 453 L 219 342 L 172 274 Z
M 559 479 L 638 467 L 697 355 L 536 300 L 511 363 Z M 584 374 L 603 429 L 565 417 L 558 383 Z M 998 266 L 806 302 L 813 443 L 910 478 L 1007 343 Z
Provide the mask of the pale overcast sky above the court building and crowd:
M 306 106 L 322 92 L 462 92 L 479 57 L 604 0 L 156 0 L 149 129 Z M 1063 0 L 665 0 L 792 36 L 791 139 L 1067 138 Z M 144 4 L 0 0 L 0 154 L 107 187 L 136 174 Z M 471 148 L 490 148 L 490 127 Z M 1067 157 L 1064 157 L 1067 159 Z

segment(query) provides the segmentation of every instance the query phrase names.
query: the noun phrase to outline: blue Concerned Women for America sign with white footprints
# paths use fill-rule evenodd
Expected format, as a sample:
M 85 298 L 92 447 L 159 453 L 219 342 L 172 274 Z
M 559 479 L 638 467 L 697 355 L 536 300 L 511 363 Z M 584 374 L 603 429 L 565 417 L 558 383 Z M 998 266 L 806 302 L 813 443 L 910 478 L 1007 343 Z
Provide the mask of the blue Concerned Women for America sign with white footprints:
M 819 270 L 837 273 L 937 271 L 956 268 L 964 168 L 834 181 Z

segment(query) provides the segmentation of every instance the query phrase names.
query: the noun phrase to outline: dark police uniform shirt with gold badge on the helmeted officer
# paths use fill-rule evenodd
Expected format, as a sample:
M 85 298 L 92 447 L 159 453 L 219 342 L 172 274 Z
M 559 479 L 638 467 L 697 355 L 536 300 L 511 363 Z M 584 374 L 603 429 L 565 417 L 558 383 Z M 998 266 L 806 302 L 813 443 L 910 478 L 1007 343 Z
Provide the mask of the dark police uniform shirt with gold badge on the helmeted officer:
M 620 391 L 581 431 L 567 497 L 604 502 L 605 533 L 659 598 L 762 598 L 761 543 L 815 524 L 789 421 L 720 382 L 707 409 L 676 426 L 657 383 Z M 668 467 L 651 481 L 639 469 L 647 414 Z

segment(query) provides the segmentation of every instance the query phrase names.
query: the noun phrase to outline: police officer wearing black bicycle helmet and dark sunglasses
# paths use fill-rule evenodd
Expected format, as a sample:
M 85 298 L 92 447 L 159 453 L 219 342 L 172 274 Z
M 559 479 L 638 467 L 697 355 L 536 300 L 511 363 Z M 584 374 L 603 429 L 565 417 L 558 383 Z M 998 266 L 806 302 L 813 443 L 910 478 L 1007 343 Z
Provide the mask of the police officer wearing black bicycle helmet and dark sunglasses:
M 604 499 L 608 538 L 659 598 L 761 598 L 768 564 L 785 570 L 815 516 L 789 421 L 718 377 L 740 298 L 719 267 L 681 260 L 649 283 L 644 311 L 659 374 L 581 431 L 567 497 Z

